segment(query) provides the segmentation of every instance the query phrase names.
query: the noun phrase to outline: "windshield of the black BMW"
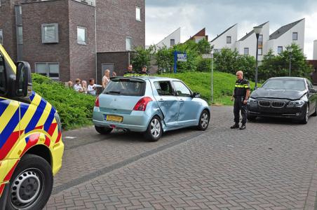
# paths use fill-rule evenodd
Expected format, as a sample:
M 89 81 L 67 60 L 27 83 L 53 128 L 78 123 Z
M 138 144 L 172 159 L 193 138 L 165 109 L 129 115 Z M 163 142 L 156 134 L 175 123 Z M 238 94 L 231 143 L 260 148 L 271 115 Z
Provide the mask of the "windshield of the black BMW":
M 274 90 L 305 90 L 304 80 L 285 80 L 285 79 L 271 79 L 267 80 L 264 85 L 265 89 L 274 89 Z

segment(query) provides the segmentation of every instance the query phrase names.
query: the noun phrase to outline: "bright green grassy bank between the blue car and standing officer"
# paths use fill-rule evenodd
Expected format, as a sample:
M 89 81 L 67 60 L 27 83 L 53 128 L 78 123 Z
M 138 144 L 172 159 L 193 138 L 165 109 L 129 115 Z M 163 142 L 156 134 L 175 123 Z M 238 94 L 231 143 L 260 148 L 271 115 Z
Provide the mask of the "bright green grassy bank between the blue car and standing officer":
M 159 76 L 179 78 L 194 92 L 200 92 L 201 97 L 211 104 L 211 73 L 210 72 L 185 72 L 163 73 Z M 236 83 L 236 76 L 231 73 L 214 71 L 213 73 L 213 104 L 218 106 L 231 106 L 231 95 Z M 250 81 L 251 88 L 255 83 Z

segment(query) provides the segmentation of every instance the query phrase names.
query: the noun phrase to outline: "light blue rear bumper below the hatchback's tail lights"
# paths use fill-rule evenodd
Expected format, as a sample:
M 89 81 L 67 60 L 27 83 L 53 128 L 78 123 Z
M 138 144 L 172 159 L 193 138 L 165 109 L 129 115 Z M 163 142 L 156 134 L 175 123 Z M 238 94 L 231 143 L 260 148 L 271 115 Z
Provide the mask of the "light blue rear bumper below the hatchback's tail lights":
M 104 120 L 105 115 L 121 116 L 123 117 L 123 122 L 117 123 L 106 121 Z M 145 132 L 149 120 L 151 120 L 151 116 L 149 116 L 146 111 L 132 111 L 130 114 L 102 112 L 97 108 L 93 111 L 93 124 L 98 127 L 111 127 L 133 132 Z

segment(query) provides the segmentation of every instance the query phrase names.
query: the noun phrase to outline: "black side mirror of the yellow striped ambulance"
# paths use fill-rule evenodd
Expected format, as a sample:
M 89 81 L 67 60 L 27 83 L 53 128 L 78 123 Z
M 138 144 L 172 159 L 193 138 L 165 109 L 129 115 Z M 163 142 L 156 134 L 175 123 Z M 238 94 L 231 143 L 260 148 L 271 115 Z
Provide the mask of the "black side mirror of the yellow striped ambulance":
M 17 76 L 15 80 L 15 96 L 29 97 L 32 94 L 31 67 L 28 62 L 17 63 Z

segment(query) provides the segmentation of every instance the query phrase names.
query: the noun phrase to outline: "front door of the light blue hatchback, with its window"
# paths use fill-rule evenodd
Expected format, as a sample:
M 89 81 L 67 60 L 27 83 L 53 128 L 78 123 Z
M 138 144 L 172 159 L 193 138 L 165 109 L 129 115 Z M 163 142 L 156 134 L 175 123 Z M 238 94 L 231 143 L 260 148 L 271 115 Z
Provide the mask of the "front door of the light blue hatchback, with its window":
M 180 102 L 180 113 L 178 114 L 178 122 L 181 125 L 196 125 L 197 111 L 200 103 L 191 97 L 191 90 L 179 80 L 173 80 L 176 96 Z

